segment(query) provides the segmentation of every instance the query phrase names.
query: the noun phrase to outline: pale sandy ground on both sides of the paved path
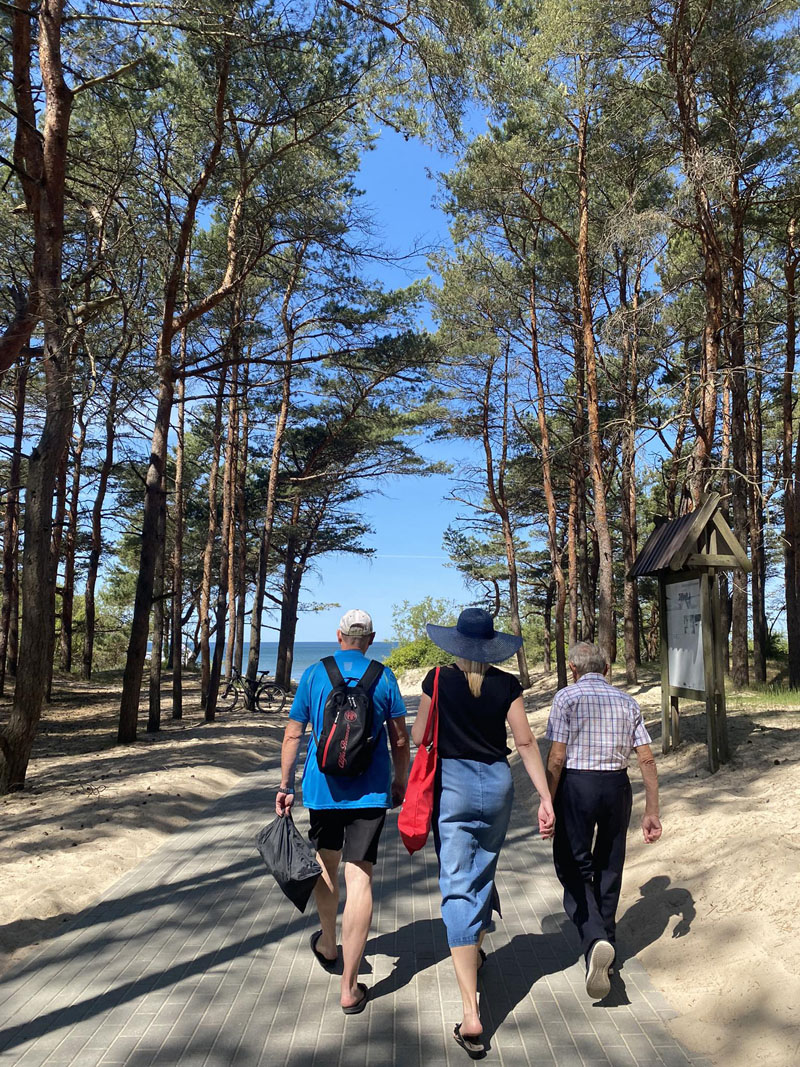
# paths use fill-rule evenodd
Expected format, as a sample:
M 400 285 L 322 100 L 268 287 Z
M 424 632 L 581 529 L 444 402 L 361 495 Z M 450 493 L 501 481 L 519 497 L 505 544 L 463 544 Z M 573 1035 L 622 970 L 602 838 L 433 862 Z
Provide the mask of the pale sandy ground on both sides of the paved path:
M 646 676 L 630 691 L 658 758 L 663 837 L 642 842 L 634 769 L 621 947 L 678 1012 L 687 1048 L 717 1067 L 796 1067 L 800 706 L 729 694 L 732 760 L 709 775 L 700 705 L 682 704 L 684 742 L 660 753 L 660 690 Z M 418 683 L 406 675 L 403 694 Z M 57 683 L 27 789 L 0 798 L 0 973 L 277 752 L 285 716 L 204 723 L 191 685 L 180 722 L 165 706 L 159 734 L 117 746 L 118 678 Z M 551 678 L 537 675 L 526 702 L 540 738 L 551 696 Z

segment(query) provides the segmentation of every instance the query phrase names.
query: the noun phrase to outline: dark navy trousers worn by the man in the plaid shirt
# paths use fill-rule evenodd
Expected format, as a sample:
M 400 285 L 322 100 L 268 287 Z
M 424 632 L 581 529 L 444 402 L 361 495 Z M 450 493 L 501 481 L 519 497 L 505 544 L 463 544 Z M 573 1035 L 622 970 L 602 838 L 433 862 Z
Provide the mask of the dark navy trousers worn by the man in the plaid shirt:
M 564 911 L 583 955 L 614 943 L 631 793 L 626 770 L 564 770 L 556 792 L 553 858 Z

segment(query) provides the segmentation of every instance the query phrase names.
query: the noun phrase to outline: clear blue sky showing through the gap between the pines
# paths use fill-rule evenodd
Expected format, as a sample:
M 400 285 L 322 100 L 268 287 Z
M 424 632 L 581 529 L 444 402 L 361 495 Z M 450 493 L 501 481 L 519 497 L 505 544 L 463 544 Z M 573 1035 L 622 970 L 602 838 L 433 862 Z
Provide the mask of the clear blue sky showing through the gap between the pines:
M 428 170 L 435 172 L 449 165 L 450 161 L 419 141 L 406 141 L 391 130 L 383 130 L 374 150 L 365 157 L 359 184 L 381 239 L 393 253 L 403 255 L 415 246 L 448 241 L 447 219 L 433 206 L 436 185 Z M 419 256 L 414 262 L 406 261 L 402 269 L 382 268 L 380 277 L 387 286 L 403 286 L 428 273 L 425 257 Z M 418 447 L 429 460 L 459 460 L 458 444 L 420 443 Z M 442 547 L 442 536 L 459 509 L 446 499 L 450 479 L 445 475 L 399 477 L 381 488 L 382 494 L 364 498 L 366 517 L 374 527 L 369 543 L 375 556 L 361 559 L 340 555 L 320 560 L 319 573 L 308 574 L 305 579 L 301 602 L 337 603 L 340 607 L 301 612 L 299 641 L 330 639 L 349 607 L 370 611 L 378 638 L 383 639 L 391 635 L 391 609 L 396 604 L 414 604 L 429 595 L 459 604 L 469 600 L 461 576 L 448 567 Z M 266 627 L 262 636 L 265 640 L 274 638 Z

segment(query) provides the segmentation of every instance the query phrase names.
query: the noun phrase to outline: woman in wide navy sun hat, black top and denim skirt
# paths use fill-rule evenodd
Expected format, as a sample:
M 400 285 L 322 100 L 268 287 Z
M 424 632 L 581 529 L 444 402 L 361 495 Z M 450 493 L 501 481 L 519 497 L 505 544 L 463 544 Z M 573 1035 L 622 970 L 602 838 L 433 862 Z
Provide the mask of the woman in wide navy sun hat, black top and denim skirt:
M 539 831 L 553 837 L 555 817 L 542 758 L 528 724 L 522 687 L 513 674 L 492 667 L 522 646 L 495 631 L 492 617 L 466 608 L 455 626 L 429 625 L 428 635 L 458 657 L 438 679 L 437 811 L 434 840 L 439 860 L 442 918 L 447 928 L 464 1013 L 453 1037 L 473 1057 L 483 1054 L 478 1014 L 478 969 L 490 923 L 497 857 L 511 816 L 513 784 L 506 726 L 539 793 Z M 422 682 L 412 737 L 425 735 L 434 671 Z

